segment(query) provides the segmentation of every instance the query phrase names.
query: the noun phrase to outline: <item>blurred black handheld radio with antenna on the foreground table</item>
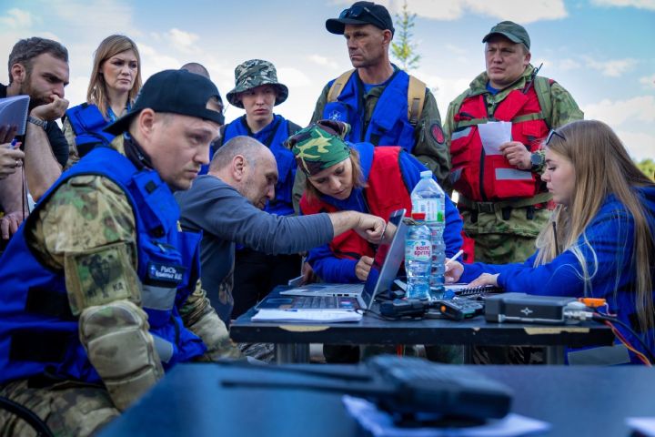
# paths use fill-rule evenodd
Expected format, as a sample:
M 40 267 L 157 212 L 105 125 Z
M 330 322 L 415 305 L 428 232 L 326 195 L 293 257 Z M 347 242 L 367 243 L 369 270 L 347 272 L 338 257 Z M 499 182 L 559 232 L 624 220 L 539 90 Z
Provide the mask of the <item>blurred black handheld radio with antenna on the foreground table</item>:
M 221 363 L 252 366 L 237 361 Z M 509 413 L 512 392 L 476 371 L 415 357 L 377 355 L 355 366 L 252 366 L 270 372 L 297 373 L 312 380 L 270 378 L 224 379 L 227 387 L 332 391 L 368 399 L 391 414 L 398 424 L 434 424 L 450 419 L 484 421 Z

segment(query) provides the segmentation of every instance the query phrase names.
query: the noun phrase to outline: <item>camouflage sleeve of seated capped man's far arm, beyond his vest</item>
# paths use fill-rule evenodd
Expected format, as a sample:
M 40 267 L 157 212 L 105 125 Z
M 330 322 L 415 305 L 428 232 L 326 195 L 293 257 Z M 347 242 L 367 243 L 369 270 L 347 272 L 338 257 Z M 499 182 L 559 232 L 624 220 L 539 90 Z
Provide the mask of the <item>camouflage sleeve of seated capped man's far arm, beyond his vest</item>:
M 227 327 L 212 308 L 207 293 L 198 279 L 196 290 L 180 309 L 185 326 L 193 331 L 207 346 L 200 361 L 217 361 L 223 358 L 240 358 L 241 351 L 229 338 Z

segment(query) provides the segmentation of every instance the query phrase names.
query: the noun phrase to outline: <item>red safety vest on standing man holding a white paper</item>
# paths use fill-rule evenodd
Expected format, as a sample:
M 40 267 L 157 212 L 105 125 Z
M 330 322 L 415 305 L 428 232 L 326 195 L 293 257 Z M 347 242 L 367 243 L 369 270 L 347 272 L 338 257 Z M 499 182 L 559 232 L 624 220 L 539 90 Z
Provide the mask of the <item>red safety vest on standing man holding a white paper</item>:
M 515 89 L 487 112 L 484 94 L 466 97 L 454 117 L 450 141 L 453 186 L 473 201 L 530 198 L 539 194 L 541 179 L 529 170 L 519 170 L 502 155 L 488 155 L 482 147 L 478 125 L 488 121 L 510 121 L 512 140 L 531 152 L 539 149 L 549 127 L 539 107 L 535 87 Z

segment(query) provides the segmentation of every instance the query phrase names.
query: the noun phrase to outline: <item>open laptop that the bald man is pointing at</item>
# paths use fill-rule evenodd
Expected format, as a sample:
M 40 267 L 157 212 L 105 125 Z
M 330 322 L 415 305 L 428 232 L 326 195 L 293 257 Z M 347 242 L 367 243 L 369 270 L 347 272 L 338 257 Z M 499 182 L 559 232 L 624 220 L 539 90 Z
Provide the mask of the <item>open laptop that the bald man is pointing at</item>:
M 267 297 L 258 310 L 358 310 L 369 309 L 375 297 L 390 289 L 405 257 L 406 210 L 391 213 L 387 229 L 395 231 L 389 243 L 378 246 L 368 279 L 364 284 L 317 283 L 283 290 Z

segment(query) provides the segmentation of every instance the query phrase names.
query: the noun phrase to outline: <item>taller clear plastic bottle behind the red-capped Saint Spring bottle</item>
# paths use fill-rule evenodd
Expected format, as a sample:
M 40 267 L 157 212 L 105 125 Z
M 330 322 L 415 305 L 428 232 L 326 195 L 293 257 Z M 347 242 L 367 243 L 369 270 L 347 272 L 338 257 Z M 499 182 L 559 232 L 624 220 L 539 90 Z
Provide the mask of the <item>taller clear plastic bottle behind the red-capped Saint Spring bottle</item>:
M 426 225 L 432 242 L 432 267 L 429 276 L 431 295 L 435 299 L 442 299 L 445 291 L 446 245 L 443 233 L 446 227 L 446 193 L 432 178 L 431 171 L 421 171 L 420 176 L 418 184 L 411 192 L 412 210 L 426 214 Z

